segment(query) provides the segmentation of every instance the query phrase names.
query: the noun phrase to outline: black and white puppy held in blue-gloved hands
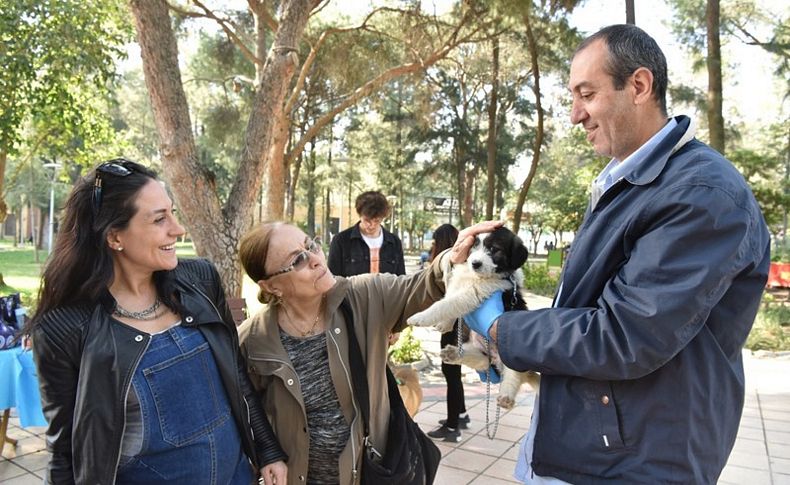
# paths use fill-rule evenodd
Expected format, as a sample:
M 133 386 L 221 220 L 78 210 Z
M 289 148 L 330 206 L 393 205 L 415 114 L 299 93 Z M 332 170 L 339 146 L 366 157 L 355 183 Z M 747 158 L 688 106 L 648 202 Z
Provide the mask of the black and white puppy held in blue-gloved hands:
M 409 317 L 407 323 L 420 327 L 433 325 L 440 332 L 447 332 L 453 322 L 471 312 L 491 296 L 502 290 L 506 311 L 526 310 L 521 295 L 524 273 L 521 266 L 527 261 L 528 251 L 521 239 L 512 231 L 500 227 L 493 232 L 479 234 L 469 252 L 466 263 L 452 266 L 449 258 L 442 259 L 445 296 L 426 310 Z M 537 389 L 538 375 L 534 372 L 516 372 L 502 364 L 495 347 L 491 346 L 491 360 L 482 338 L 473 337 L 463 344 L 463 352 L 449 345 L 442 349 L 442 360 L 450 364 L 465 364 L 475 370 L 486 371 L 489 362 L 499 370 L 502 382 L 497 402 L 504 408 L 515 404 L 516 395 L 524 382 Z

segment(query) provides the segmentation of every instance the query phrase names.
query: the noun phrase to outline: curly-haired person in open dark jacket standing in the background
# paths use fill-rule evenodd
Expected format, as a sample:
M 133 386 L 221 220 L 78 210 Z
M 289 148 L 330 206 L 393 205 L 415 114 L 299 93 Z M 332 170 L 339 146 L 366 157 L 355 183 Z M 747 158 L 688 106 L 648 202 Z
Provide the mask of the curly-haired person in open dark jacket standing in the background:
M 355 205 L 359 222 L 332 239 L 329 270 L 336 276 L 406 274 L 400 239 L 381 225 L 390 213 L 387 198 L 378 191 L 363 192 Z

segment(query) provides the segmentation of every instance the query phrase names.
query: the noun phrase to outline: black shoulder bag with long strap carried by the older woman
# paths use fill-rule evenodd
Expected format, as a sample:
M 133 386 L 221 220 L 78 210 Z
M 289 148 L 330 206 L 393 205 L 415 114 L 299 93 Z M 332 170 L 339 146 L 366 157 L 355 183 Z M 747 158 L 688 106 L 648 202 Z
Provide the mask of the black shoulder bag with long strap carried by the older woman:
M 354 316 L 351 305 L 343 300 L 340 309 L 348 329 L 348 353 L 351 364 L 351 382 L 354 396 L 359 403 L 364 426 L 362 462 L 363 485 L 430 485 L 436 478 L 436 470 L 442 453 L 433 441 L 423 433 L 411 419 L 403 405 L 398 383 L 387 366 L 387 392 L 390 400 L 389 431 L 387 449 L 382 456 L 369 441 L 370 436 L 370 393 L 365 372 L 365 361 L 354 332 Z

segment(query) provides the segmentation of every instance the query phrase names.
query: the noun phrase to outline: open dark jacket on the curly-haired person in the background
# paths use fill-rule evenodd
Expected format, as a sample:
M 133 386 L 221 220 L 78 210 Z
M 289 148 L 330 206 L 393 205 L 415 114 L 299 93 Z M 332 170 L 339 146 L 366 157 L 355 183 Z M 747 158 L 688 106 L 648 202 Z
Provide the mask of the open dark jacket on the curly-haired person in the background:
M 400 239 L 383 226 L 381 231 L 384 233 L 384 242 L 379 252 L 379 272 L 406 274 Z M 327 266 L 335 276 L 354 276 L 370 272 L 370 248 L 362 239 L 359 222 L 339 232 L 332 239 Z

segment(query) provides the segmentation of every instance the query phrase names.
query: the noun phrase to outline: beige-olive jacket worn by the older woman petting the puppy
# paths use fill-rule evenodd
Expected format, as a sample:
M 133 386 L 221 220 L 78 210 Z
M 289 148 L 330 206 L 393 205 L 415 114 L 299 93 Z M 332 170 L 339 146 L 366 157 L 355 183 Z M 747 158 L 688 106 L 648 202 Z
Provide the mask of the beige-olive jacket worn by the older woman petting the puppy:
M 447 257 L 447 253 L 442 256 Z M 363 431 L 351 389 L 348 336 L 340 302 L 348 298 L 354 314 L 354 331 L 367 364 L 371 441 L 383 452 L 389 419 L 387 337 L 401 330 L 409 316 L 442 297 L 441 260 L 437 257 L 425 271 L 414 275 L 337 277 L 337 284 L 327 294 L 329 368 L 340 407 L 351 423 L 351 436 L 340 454 L 342 485 L 359 483 Z M 289 457 L 288 483 L 305 483 L 310 445 L 307 417 L 299 377 L 280 342 L 276 307 L 264 307 L 239 327 L 239 334 L 250 380 L 260 391 L 274 433 Z

